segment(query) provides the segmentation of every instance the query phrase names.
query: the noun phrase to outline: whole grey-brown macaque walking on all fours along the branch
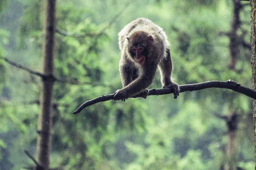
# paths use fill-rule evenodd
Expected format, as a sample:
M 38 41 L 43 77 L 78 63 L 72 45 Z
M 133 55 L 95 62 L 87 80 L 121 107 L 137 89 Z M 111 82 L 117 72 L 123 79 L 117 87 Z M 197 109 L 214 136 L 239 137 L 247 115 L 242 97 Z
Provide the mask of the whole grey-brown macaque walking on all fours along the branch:
M 162 88 L 171 88 L 174 98 L 179 96 L 179 85 L 171 80 L 172 59 L 169 42 L 163 29 L 146 18 L 138 18 L 118 33 L 121 59 L 119 71 L 123 89 L 116 90 L 114 100 L 128 97 L 147 97 L 157 67 Z

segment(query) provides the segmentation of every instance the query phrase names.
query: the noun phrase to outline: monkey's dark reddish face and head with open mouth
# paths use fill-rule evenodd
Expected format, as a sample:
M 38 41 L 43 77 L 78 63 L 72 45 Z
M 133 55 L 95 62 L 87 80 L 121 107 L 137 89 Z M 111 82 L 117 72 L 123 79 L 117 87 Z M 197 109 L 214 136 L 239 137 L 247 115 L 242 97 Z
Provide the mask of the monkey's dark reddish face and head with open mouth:
M 134 32 L 131 37 L 127 37 L 127 39 L 129 42 L 128 52 L 132 59 L 143 66 L 147 60 L 150 41 L 153 41 L 152 36 L 148 35 L 146 32 Z

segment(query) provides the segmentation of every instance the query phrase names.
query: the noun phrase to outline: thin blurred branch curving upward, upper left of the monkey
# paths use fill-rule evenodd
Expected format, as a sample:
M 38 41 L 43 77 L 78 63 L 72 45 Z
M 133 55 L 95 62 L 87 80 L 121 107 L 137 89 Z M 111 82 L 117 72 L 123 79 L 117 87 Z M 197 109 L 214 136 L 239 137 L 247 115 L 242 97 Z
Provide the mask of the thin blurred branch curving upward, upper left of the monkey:
M 129 6 L 129 4 L 131 4 L 131 1 L 128 1 L 123 8 L 120 9 L 120 11 L 118 11 L 118 13 L 116 13 L 116 15 L 109 21 L 108 25 L 106 25 L 105 27 L 103 27 L 100 31 L 98 32 L 87 32 L 84 34 L 79 34 L 79 33 L 74 33 L 74 32 L 67 32 L 61 29 L 56 29 L 56 32 L 58 34 L 61 34 L 62 36 L 70 36 L 70 37 L 74 37 L 74 38 L 84 38 L 84 37 L 93 37 L 93 36 L 100 36 L 101 34 L 103 34 L 106 29 L 108 29 L 114 22 L 115 20 L 125 11 L 125 9 Z

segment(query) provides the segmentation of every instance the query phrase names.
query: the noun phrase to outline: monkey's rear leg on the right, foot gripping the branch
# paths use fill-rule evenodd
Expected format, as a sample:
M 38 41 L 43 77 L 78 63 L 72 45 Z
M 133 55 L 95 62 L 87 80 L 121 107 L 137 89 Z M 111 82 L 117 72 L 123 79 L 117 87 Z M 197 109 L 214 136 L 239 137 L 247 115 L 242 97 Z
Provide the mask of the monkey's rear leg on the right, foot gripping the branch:
M 171 87 L 173 89 L 174 98 L 179 96 L 179 85 L 174 83 L 171 79 L 172 76 L 172 58 L 170 55 L 170 49 L 166 50 L 166 56 L 159 61 L 159 71 L 161 74 L 162 88 Z

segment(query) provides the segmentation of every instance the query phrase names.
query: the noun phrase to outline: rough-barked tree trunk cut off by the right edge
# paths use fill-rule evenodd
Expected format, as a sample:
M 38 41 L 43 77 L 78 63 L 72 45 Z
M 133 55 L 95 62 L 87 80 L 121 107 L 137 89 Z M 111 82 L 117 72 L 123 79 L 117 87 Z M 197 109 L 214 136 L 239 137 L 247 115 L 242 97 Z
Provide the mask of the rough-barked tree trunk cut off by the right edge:
M 251 6 L 251 49 L 252 49 L 252 79 L 253 90 L 256 90 L 256 0 L 250 1 Z M 254 129 L 254 153 L 256 164 L 256 100 L 253 99 L 253 129 Z M 255 165 L 256 170 L 256 165 Z

